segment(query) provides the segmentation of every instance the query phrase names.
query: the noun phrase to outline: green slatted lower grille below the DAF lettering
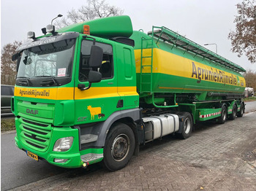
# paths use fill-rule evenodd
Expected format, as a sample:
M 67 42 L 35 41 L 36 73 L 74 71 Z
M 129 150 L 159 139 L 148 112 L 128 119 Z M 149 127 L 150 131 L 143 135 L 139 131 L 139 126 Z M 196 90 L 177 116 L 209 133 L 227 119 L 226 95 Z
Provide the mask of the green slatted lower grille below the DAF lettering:
M 20 139 L 31 149 L 45 152 L 50 144 L 53 127 L 43 122 L 25 120 L 20 117 Z

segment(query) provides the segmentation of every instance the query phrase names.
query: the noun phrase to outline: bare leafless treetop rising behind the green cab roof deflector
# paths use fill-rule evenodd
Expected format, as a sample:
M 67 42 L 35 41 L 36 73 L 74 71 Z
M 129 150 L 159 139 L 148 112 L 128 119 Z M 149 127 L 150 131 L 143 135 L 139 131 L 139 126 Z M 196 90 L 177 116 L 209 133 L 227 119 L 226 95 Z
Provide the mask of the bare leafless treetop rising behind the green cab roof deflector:
M 56 28 L 62 28 L 73 23 L 80 23 L 101 17 L 122 15 L 123 13 L 123 9 L 110 6 L 105 3 L 105 0 L 87 0 L 87 5 L 83 5 L 77 10 L 71 9 L 67 12 L 67 17 L 63 17 L 61 20 L 56 20 L 55 25 Z

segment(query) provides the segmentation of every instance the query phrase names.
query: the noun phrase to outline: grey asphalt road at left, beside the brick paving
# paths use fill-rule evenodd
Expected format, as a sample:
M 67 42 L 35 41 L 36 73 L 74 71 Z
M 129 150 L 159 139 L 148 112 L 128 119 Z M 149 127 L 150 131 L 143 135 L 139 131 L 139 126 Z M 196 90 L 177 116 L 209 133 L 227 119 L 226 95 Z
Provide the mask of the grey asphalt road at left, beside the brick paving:
M 30 159 L 26 152 L 15 146 L 14 138 L 15 133 L 1 135 L 1 190 L 9 190 L 67 171 L 44 161 Z

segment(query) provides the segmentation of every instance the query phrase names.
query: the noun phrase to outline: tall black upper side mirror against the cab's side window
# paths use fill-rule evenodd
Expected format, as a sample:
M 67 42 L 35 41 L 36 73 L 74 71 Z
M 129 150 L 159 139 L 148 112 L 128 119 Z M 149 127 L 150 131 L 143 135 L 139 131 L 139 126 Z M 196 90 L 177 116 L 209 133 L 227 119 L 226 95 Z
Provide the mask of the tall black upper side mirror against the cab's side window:
M 100 68 L 102 66 L 103 50 L 96 45 L 91 46 L 91 57 L 89 66 L 91 68 Z

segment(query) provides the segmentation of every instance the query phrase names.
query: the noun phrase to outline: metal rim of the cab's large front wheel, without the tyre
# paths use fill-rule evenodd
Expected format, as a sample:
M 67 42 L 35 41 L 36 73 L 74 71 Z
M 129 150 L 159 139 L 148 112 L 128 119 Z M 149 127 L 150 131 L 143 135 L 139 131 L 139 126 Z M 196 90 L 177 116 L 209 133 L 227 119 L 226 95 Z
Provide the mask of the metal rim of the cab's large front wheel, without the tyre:
M 129 153 L 130 141 L 129 137 L 125 134 L 118 135 L 113 141 L 111 147 L 111 154 L 114 160 L 121 161 L 127 157 Z

